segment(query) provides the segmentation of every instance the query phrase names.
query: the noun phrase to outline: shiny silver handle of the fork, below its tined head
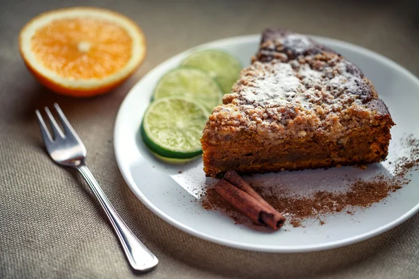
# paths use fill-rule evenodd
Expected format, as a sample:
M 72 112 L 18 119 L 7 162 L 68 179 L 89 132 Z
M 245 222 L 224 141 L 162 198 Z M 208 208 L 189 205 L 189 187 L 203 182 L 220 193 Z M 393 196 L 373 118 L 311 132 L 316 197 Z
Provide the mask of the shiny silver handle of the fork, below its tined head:
M 110 204 L 108 197 L 98 184 L 98 181 L 94 179 L 93 174 L 91 174 L 89 168 L 82 164 L 77 167 L 80 174 L 89 184 L 94 195 L 98 198 L 103 210 L 105 210 L 106 215 L 108 216 L 110 223 L 115 230 L 119 241 L 124 248 L 126 257 L 128 258 L 129 263 L 133 269 L 138 271 L 149 271 L 153 269 L 158 263 L 159 260 L 156 256 L 144 246 L 144 244 L 139 241 L 133 232 L 125 225 L 122 218 L 119 216 L 117 211 L 115 211 L 112 204 Z

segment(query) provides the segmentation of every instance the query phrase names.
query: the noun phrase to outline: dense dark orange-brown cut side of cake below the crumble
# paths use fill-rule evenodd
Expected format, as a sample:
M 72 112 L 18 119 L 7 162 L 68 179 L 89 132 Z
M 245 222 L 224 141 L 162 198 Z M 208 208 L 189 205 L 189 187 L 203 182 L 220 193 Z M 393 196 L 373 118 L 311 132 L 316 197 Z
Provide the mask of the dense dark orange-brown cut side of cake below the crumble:
M 351 131 L 341 142 L 327 138 L 269 140 L 255 133 L 240 133 L 203 140 L 204 171 L 220 178 L 228 170 L 239 174 L 258 174 L 284 170 L 316 169 L 337 165 L 378 163 L 388 154 L 390 129 L 378 126 Z M 213 143 L 211 143 L 213 142 Z

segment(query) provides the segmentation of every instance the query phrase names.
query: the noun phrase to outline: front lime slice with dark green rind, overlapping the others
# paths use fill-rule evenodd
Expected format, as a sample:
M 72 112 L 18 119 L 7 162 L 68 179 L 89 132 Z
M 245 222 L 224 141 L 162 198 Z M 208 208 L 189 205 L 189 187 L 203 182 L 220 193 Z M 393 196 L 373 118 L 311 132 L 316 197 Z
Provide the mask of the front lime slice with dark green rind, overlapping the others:
M 200 138 L 208 112 L 184 97 L 154 101 L 144 114 L 141 133 L 145 144 L 166 158 L 193 158 L 202 153 Z

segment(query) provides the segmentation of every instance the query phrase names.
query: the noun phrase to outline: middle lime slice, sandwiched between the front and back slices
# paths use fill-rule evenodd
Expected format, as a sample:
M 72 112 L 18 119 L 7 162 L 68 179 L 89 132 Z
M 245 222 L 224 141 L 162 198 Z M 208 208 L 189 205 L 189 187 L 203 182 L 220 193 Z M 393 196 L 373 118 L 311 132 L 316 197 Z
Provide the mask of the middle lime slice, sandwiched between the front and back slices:
M 184 96 L 189 100 L 196 100 L 212 112 L 221 103 L 223 93 L 219 85 L 203 70 L 183 67 L 164 75 L 154 89 L 154 100 L 168 96 Z

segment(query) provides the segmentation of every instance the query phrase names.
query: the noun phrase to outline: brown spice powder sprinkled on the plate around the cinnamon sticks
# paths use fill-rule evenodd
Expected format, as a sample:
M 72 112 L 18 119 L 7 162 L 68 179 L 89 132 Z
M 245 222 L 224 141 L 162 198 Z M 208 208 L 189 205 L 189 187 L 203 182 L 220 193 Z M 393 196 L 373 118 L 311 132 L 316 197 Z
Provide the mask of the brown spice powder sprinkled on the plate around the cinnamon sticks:
M 392 176 L 376 175 L 372 179 L 352 181 L 344 192 L 316 191 L 311 195 L 294 195 L 290 190 L 272 185 L 270 187 L 253 188 L 274 209 L 287 216 L 288 223 L 300 227 L 306 218 L 318 218 L 333 213 L 348 213 L 353 215 L 356 209 L 366 209 L 377 202 L 383 201 L 388 195 L 409 183 L 409 171 L 419 167 L 419 140 L 412 135 L 404 137 L 402 148 L 407 150 L 404 156 L 397 158 L 389 165 L 393 166 Z M 235 220 L 236 224 L 249 223 L 245 216 L 230 206 L 213 188 L 207 188 L 202 197 L 203 207 L 207 210 L 219 210 Z

